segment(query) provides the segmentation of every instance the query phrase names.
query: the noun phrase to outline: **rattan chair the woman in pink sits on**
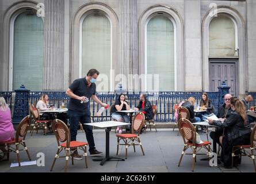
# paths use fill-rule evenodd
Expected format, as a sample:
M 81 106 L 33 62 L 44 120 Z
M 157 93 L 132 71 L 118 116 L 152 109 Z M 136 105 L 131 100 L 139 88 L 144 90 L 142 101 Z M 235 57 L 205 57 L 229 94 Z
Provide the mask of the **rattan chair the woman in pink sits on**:
M 28 154 L 29 160 L 31 160 L 28 152 L 28 148 L 26 147 L 26 143 L 25 143 L 26 133 L 28 132 L 29 125 L 30 125 L 30 118 L 29 116 L 26 116 L 23 118 L 23 120 L 21 120 L 20 124 L 18 125 L 15 138 L 11 141 L 0 142 L 0 145 L 7 146 L 7 160 L 9 160 L 10 151 L 16 152 L 17 158 L 18 158 L 18 166 L 21 166 L 20 153 L 19 153 L 20 145 L 24 147 L 26 154 Z M 12 147 L 12 145 L 15 145 L 15 148 Z

